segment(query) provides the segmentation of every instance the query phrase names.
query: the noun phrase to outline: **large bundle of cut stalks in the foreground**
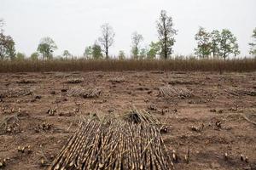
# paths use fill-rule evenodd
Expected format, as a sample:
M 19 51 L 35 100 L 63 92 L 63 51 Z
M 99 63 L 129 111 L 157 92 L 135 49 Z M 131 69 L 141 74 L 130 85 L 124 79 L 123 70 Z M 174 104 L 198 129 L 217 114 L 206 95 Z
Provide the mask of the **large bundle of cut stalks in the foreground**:
M 83 122 L 49 170 L 173 169 L 156 127 L 118 120 Z

